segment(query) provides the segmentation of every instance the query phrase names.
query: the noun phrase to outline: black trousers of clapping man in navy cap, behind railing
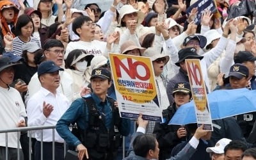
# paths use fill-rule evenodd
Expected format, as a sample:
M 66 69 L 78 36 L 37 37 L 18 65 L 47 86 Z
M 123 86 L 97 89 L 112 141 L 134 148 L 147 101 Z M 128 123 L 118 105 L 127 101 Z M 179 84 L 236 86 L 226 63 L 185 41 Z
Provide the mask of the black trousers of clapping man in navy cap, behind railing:
M 55 142 L 55 160 L 64 159 L 64 143 Z M 52 142 L 43 142 L 43 159 L 52 159 Z M 36 141 L 35 143 L 35 160 L 41 160 L 41 142 Z

